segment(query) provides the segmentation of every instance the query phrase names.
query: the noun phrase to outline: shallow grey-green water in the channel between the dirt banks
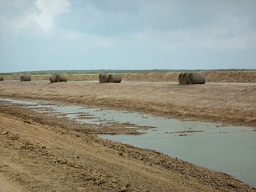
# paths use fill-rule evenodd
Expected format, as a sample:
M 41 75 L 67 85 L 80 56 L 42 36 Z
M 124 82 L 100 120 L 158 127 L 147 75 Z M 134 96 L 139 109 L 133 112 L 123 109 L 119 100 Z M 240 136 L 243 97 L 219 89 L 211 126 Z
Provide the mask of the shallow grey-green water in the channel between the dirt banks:
M 47 112 L 57 118 L 66 117 L 75 119 L 77 122 L 106 126 L 109 122 L 130 122 L 131 125 L 136 126 L 156 127 L 141 130 L 145 133 L 141 135 L 99 136 L 140 148 L 154 149 L 192 164 L 222 171 L 243 183 L 256 187 L 256 131 L 254 128 L 223 126 L 211 122 L 183 122 L 139 113 L 45 104 L 42 101 L 0 100 L 24 104 L 24 107 L 31 107 L 38 113 Z

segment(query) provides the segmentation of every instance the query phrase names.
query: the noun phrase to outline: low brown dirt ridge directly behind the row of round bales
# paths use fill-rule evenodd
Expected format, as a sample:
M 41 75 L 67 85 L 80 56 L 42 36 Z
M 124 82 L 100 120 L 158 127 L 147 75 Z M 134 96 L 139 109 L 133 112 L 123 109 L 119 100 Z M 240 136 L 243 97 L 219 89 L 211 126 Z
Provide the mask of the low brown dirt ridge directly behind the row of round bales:
M 255 83 L 256 71 L 205 71 L 206 82 L 236 82 Z M 122 81 L 136 82 L 178 82 L 179 73 L 126 73 L 121 74 Z M 50 76 L 32 76 L 34 80 L 49 80 Z M 71 81 L 98 81 L 98 75 L 67 75 Z M 19 79 L 20 75 L 15 74 L 5 77 L 5 79 Z

